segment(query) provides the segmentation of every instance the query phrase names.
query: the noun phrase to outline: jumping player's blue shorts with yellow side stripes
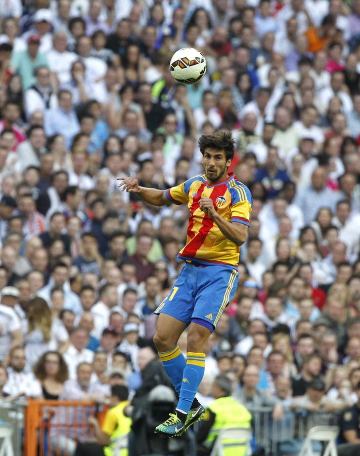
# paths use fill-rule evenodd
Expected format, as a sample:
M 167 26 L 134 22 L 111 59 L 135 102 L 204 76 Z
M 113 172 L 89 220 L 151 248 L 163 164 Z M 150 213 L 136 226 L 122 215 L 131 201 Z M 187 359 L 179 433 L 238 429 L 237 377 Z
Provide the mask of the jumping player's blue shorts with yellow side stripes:
M 238 271 L 227 266 L 203 266 L 185 262 L 170 293 L 155 310 L 187 325 L 192 320 L 206 322 L 215 328 L 223 310 L 228 306 L 238 287 Z M 201 324 L 201 323 L 200 323 Z

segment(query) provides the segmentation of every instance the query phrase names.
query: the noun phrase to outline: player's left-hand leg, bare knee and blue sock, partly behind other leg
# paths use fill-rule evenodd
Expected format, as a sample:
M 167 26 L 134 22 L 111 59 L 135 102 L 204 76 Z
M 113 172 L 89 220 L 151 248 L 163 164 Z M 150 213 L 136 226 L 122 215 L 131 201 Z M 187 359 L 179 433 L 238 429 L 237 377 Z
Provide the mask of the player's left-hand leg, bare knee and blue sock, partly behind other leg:
M 185 357 L 177 345 L 177 340 L 186 327 L 186 323 L 171 315 L 161 313 L 153 338 L 165 372 L 170 377 L 177 393 L 180 392 L 183 371 L 186 366 Z

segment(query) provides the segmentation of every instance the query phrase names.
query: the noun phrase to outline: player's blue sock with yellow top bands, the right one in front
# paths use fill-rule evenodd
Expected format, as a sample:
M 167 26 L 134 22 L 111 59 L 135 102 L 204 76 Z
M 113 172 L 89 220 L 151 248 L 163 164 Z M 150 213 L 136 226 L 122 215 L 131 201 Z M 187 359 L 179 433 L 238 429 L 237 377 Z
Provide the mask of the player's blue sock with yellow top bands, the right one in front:
M 187 353 L 186 367 L 176 410 L 188 413 L 204 376 L 205 353 Z

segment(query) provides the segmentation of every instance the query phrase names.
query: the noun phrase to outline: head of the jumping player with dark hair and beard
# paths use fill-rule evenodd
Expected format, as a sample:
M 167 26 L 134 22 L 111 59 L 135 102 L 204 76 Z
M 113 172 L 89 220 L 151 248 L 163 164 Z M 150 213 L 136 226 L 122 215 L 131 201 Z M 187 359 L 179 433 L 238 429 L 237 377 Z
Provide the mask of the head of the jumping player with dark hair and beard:
M 217 131 L 212 135 L 202 135 L 199 148 L 203 156 L 206 178 L 216 182 L 227 173 L 234 157 L 234 140 L 230 131 Z

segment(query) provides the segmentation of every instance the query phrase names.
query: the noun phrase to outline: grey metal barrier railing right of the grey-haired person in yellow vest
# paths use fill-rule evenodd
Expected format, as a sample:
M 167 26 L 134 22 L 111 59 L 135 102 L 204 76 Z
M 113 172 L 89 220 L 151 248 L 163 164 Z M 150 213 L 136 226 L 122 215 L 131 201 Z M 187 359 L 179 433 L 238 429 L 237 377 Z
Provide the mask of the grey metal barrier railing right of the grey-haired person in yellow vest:
M 309 429 L 314 426 L 338 426 L 339 413 L 287 411 L 275 421 L 271 407 L 248 407 L 253 416 L 254 442 L 268 456 L 298 454 Z

